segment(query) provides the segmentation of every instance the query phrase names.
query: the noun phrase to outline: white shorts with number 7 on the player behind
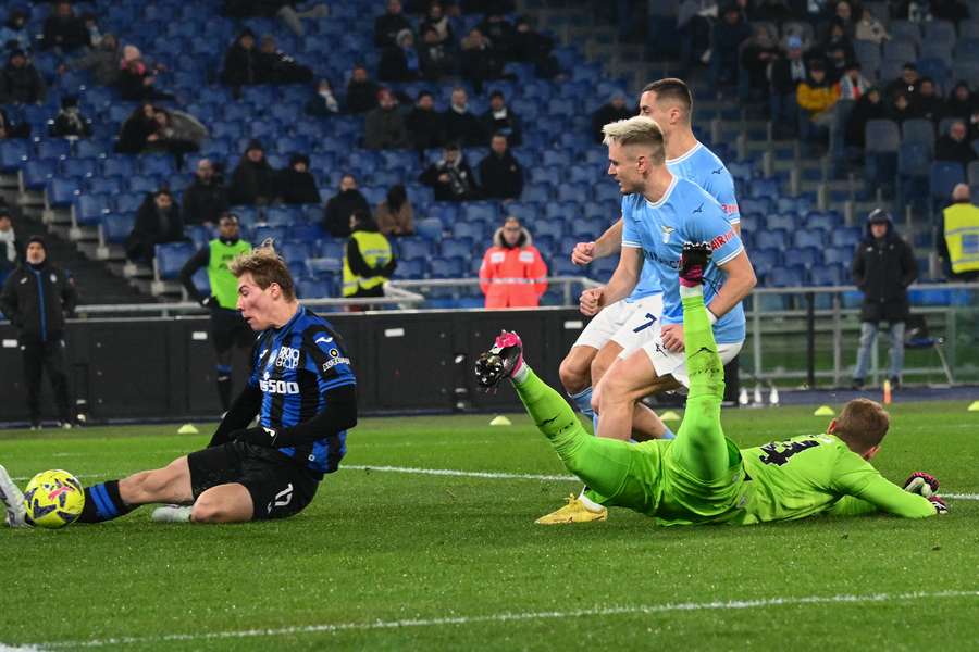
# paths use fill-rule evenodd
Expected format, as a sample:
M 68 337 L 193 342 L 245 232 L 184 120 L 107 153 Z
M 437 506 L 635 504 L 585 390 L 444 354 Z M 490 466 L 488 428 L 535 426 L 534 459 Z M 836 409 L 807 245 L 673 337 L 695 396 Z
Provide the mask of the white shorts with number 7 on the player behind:
M 614 341 L 627 353 L 635 351 L 659 333 L 662 293 L 650 294 L 634 303 L 616 301 L 602 309 L 578 336 L 575 347 L 602 349 Z

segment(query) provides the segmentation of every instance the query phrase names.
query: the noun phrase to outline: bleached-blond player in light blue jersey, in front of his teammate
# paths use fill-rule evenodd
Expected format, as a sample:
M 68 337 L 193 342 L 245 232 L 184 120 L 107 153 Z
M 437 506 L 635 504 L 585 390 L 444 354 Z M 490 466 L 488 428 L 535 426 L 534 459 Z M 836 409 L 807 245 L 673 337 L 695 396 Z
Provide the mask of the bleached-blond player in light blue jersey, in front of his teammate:
M 714 254 L 707 271 L 706 301 L 721 360 L 729 362 L 744 341 L 741 300 L 755 286 L 755 273 L 734 226 L 720 203 L 693 181 L 679 178 L 666 166 L 664 134 L 645 116 L 605 127 L 609 174 L 623 195 L 634 196 L 623 214 L 622 253 L 611 280 L 604 288 L 582 293 L 582 309 L 600 310 L 635 287 L 643 262 L 659 271 L 664 287 L 660 333 L 619 360 L 596 388 L 593 402 L 602 418 L 599 435 L 622 439 L 632 429 L 641 398 L 686 385 L 683 356 L 682 309 L 677 288 L 677 264 L 684 242 L 710 242 Z

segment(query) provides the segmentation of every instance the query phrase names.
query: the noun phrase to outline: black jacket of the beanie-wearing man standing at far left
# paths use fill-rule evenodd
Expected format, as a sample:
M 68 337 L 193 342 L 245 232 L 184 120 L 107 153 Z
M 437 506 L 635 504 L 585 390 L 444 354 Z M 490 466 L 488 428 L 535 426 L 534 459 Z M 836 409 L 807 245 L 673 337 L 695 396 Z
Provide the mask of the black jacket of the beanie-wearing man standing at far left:
M 38 284 L 44 285 L 44 292 L 38 291 Z M 47 339 L 41 337 L 39 294 L 44 296 L 44 331 Z M 22 343 L 39 343 L 62 338 L 65 314 L 74 312 L 77 301 L 75 283 L 61 268 L 47 260 L 40 265 L 25 262 L 7 277 L 0 296 L 0 310 L 17 329 L 17 339 Z

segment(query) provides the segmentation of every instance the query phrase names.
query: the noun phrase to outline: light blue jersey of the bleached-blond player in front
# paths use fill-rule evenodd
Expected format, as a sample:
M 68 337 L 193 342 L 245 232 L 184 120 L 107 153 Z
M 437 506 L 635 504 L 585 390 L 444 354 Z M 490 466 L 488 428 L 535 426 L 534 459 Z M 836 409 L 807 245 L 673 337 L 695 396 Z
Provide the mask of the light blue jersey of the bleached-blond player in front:
M 720 204 L 693 181 L 674 176 L 656 203 L 641 195 L 630 195 L 627 200 L 632 205 L 622 211 L 622 247 L 642 249 L 643 266 L 657 271 L 662 288 L 662 323 L 682 324 L 677 271 L 683 243 L 710 242 L 714 254 L 704 274 L 704 301 L 709 306 L 726 279 L 718 265 L 744 250 L 741 238 Z M 744 309 L 738 303 L 714 325 L 714 337 L 719 344 L 731 344 L 744 341 Z

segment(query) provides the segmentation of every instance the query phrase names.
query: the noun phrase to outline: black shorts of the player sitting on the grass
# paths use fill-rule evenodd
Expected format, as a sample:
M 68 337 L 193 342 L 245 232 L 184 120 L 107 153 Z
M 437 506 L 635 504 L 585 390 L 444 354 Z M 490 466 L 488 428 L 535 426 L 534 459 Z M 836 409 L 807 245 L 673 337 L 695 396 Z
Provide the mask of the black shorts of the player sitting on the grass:
M 219 485 L 237 482 L 251 494 L 252 521 L 285 518 L 312 502 L 320 480 L 274 449 L 241 441 L 187 455 L 194 500 Z

